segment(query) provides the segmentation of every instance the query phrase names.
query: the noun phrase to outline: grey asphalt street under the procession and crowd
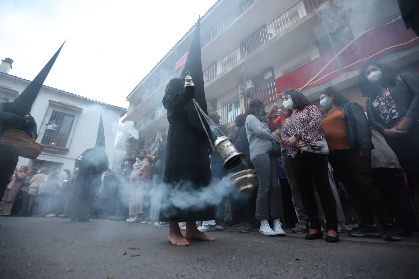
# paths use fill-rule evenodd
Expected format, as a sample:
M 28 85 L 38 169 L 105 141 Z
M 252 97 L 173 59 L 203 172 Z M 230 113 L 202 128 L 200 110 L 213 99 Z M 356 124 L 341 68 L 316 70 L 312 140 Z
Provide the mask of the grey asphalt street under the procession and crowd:
M 211 231 L 167 243 L 168 228 L 110 220 L 1 217 L 0 278 L 418 278 L 419 238 L 338 243 Z M 132 256 L 134 255 L 134 256 Z M 137 256 L 138 255 L 138 256 Z

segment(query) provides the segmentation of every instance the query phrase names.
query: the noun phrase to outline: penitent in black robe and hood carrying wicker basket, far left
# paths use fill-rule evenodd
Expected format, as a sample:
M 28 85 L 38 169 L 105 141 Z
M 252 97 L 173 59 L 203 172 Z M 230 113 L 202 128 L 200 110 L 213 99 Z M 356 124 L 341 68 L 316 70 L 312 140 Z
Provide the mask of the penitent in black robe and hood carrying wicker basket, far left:
M 30 114 L 31 108 L 62 46 L 13 102 L 0 103 L 0 138 L 7 129 L 21 130 L 34 139 L 38 137 L 36 122 Z M 15 171 L 19 155 L 10 146 L 0 144 L 0 197 L 3 197 L 3 192 Z

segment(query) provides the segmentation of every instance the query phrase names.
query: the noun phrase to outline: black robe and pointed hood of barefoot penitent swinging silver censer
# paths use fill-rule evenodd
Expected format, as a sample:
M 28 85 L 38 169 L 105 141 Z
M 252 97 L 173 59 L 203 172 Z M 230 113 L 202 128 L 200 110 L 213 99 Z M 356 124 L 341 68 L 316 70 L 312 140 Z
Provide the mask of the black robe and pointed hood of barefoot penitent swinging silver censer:
M 195 87 L 184 87 L 186 72 L 191 73 Z M 171 202 L 171 191 L 199 191 L 211 180 L 209 154 L 212 148 L 201 121 L 194 108 L 192 98 L 207 113 L 204 95 L 204 77 L 201 64 L 199 20 L 194 39 L 180 79 L 172 79 L 166 87 L 163 106 L 167 109 L 169 130 L 166 145 L 166 165 L 163 181 L 168 184 L 168 196 L 162 197 L 160 221 L 202 221 L 215 219 L 214 205 L 177 208 Z M 203 119 L 203 118 L 202 118 Z M 204 122 L 205 123 L 205 122 Z M 209 125 L 205 123 L 212 139 Z M 169 206 L 167 206 L 169 205 Z

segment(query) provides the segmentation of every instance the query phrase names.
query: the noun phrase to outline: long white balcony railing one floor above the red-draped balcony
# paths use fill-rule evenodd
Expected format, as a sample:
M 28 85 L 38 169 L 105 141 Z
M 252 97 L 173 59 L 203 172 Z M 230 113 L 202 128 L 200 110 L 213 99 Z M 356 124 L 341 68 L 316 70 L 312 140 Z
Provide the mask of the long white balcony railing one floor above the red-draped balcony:
M 207 71 L 204 72 L 204 79 L 206 79 L 206 82 L 215 79 L 218 75 L 232 68 L 236 63 L 241 61 L 241 59 L 245 58 L 256 49 L 259 49 L 259 47 L 272 40 L 272 38 L 278 36 L 279 33 L 282 33 L 287 28 L 295 25 L 295 23 L 326 1 L 327 0 L 299 1 L 290 9 L 286 10 L 284 13 L 272 20 L 272 22 L 266 24 L 266 26 L 260 28 L 251 36 L 246 38 L 242 42 L 241 46 L 236 47 L 219 61 L 210 65 L 207 68 Z

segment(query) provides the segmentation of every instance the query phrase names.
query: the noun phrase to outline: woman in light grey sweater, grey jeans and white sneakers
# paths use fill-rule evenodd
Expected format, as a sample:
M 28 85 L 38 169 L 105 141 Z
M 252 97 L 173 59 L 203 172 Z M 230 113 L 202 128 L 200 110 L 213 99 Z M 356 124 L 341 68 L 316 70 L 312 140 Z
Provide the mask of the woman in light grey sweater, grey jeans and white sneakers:
M 250 159 L 256 170 L 258 193 L 256 198 L 256 215 L 261 220 L 259 233 L 264 235 L 283 235 L 279 218 L 282 215 L 282 197 L 278 184 L 278 161 L 273 155 L 272 144 L 277 139 L 264 122 L 265 105 L 259 100 L 250 102 L 246 111 L 246 134 L 249 142 Z M 274 143 L 273 143 L 274 142 Z M 268 219 L 274 220 L 274 228 L 269 226 Z

